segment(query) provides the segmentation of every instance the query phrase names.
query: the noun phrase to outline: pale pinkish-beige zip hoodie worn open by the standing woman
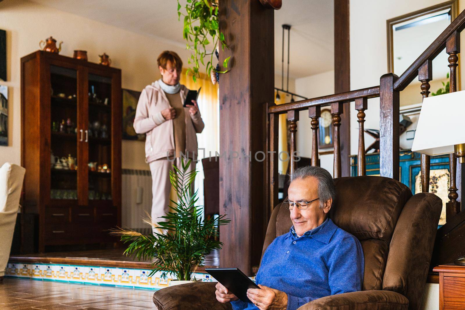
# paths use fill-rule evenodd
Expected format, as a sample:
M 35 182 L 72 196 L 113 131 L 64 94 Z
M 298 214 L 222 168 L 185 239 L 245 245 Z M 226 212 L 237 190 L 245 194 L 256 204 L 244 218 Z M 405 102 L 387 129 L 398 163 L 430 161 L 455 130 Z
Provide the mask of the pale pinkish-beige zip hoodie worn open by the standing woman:
M 182 102 L 186 99 L 188 89 L 181 85 L 179 95 Z M 137 103 L 136 116 L 134 118 L 134 130 L 137 133 L 146 134 L 146 162 L 150 163 L 160 158 L 172 157 L 174 155 L 173 120 L 164 119 L 161 111 L 170 108 L 170 103 L 165 92 L 160 88 L 158 81 L 147 85 L 140 93 Z M 186 151 L 189 158 L 197 159 L 197 135 L 203 131 L 205 125 L 200 112 L 186 118 Z

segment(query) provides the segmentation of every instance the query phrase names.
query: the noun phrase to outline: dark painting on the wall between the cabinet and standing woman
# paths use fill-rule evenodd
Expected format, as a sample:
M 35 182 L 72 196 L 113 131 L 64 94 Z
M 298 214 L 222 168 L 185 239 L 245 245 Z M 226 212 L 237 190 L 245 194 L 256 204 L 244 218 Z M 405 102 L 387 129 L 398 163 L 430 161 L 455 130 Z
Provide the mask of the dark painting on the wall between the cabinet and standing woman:
M 140 92 L 123 89 L 123 139 L 145 141 L 145 133 L 137 134 L 134 130 L 137 102 Z

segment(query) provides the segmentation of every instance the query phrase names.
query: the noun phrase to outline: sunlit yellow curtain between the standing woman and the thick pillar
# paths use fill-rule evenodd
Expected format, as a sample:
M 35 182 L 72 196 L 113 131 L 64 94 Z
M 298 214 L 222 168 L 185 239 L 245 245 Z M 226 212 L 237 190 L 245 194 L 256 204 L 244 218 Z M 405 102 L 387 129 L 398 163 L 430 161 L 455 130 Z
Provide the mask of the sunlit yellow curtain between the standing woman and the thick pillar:
M 202 133 L 197 134 L 197 142 L 199 145 L 199 161 L 197 162 L 196 170 L 198 171 L 195 178 L 194 187 L 198 190 L 197 205 L 204 205 L 204 188 L 203 179 L 204 171 L 201 158 L 215 156 L 215 152 L 219 153 L 219 101 L 218 101 L 218 83 L 213 85 L 210 77 L 204 73 L 200 73 L 197 82 L 194 83 L 192 75 L 186 76 L 186 69 L 182 70 L 179 83 L 185 85 L 188 89 L 198 90 L 199 93 L 199 110 L 202 119 L 205 123 L 205 128 Z M 205 149 L 202 150 L 202 149 Z M 173 192 L 172 192 L 173 194 Z

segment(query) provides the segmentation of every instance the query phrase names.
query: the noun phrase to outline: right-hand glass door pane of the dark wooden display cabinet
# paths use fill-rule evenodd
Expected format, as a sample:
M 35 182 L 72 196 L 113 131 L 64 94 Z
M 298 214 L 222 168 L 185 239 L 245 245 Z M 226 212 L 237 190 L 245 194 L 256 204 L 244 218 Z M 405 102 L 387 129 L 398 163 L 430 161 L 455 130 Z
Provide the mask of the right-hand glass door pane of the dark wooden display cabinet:
M 112 79 L 89 73 L 89 205 L 112 200 Z

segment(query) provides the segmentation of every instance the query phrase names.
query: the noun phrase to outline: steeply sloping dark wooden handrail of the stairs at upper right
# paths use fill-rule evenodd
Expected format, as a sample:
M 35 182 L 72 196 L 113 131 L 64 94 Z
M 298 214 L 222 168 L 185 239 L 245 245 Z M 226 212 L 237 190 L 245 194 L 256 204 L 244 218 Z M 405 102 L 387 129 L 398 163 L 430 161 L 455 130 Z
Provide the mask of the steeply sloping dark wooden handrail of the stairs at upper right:
M 455 20 L 450 23 L 445 30 L 439 34 L 438 38 L 431 43 L 430 46 L 423 52 L 412 65 L 396 80 L 394 89 L 397 91 L 404 90 L 413 79 L 418 75 L 419 68 L 425 63 L 426 60 L 433 60 L 445 49 L 447 39 L 455 32 L 462 32 L 465 29 L 465 10 L 460 13 Z

